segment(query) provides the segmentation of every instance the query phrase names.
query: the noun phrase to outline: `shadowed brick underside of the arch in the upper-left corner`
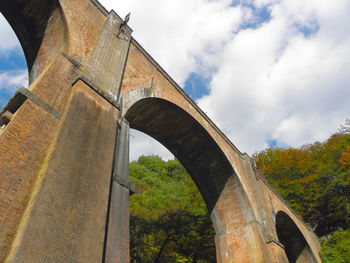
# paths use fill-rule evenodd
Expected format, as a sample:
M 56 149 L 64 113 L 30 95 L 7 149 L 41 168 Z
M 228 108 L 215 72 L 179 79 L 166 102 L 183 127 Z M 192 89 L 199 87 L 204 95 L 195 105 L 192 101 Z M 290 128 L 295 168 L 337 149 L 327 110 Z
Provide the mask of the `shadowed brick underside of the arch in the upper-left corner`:
M 67 48 L 67 26 L 59 1 L 2 1 L 0 11 L 21 43 L 31 83 Z

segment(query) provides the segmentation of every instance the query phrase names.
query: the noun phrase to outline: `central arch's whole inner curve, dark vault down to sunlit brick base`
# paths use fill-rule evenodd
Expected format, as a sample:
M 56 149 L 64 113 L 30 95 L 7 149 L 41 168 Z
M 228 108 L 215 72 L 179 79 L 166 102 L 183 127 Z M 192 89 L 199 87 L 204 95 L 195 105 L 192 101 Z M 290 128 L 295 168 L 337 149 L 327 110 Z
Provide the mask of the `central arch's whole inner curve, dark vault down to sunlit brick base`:
M 130 127 L 168 148 L 196 183 L 214 225 L 217 262 L 240 262 L 242 257 L 247 262 L 268 260 L 247 192 L 205 127 L 180 105 L 152 97 L 151 91 L 142 89 L 129 95 L 124 97 L 125 105 L 132 105 L 124 108 L 123 117 Z

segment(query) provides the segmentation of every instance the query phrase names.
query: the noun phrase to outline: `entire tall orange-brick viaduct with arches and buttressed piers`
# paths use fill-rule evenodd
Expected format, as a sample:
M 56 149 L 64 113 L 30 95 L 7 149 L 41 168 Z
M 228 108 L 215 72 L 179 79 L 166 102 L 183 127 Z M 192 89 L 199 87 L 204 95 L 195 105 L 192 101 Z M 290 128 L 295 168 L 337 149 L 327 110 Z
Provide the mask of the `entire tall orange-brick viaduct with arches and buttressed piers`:
M 0 112 L 0 262 L 129 262 L 129 127 L 190 173 L 217 262 L 321 262 L 316 235 L 114 11 L 96 0 L 0 11 L 30 79 Z

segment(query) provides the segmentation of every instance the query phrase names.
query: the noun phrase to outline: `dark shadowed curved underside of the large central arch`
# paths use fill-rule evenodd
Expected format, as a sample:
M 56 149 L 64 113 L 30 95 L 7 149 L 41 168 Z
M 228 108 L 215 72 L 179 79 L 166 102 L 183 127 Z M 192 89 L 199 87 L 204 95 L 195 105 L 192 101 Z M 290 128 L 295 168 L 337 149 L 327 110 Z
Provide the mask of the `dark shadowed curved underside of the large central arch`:
M 176 104 L 154 97 L 138 100 L 124 117 L 131 128 L 153 137 L 176 156 L 211 212 L 235 172 L 205 128 Z

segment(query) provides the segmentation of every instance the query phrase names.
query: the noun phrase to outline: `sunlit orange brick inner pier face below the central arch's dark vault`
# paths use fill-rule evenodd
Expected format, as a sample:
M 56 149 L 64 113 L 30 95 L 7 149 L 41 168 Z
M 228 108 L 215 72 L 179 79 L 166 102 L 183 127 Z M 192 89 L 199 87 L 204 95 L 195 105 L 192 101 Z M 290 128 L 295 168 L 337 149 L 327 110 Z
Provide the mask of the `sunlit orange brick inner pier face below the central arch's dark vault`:
M 228 179 L 211 218 L 216 232 L 218 263 L 271 262 L 259 222 L 236 176 Z

